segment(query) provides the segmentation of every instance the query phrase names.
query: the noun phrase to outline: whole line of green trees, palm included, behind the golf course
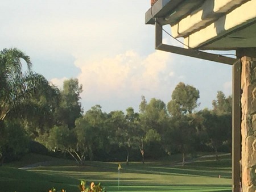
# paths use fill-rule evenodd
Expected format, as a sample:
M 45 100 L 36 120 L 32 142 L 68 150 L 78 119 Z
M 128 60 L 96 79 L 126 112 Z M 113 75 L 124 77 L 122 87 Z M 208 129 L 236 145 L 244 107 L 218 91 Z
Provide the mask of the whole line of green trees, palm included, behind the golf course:
M 27 70 L 22 69 L 26 63 Z M 31 69 L 18 49 L 0 52 L 0 159 L 27 152 L 86 160 L 144 161 L 181 153 L 230 152 L 232 97 L 217 92 L 213 108 L 196 111 L 199 90 L 180 82 L 170 101 L 144 96 L 139 112 L 128 107 L 106 113 L 100 105 L 83 111 L 76 78 L 58 89 Z

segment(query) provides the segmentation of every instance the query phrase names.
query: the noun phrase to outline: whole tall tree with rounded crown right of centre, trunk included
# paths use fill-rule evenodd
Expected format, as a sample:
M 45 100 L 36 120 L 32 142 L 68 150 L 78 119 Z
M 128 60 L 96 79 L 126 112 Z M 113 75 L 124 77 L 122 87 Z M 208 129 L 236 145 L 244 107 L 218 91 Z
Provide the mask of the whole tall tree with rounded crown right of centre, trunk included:
M 199 90 L 191 85 L 180 82 L 172 92 L 171 101 L 168 102 L 168 112 L 171 114 L 171 125 L 168 135 L 172 148 L 183 154 L 183 165 L 187 153 L 193 151 L 196 138 L 196 124 L 192 111 L 199 106 Z

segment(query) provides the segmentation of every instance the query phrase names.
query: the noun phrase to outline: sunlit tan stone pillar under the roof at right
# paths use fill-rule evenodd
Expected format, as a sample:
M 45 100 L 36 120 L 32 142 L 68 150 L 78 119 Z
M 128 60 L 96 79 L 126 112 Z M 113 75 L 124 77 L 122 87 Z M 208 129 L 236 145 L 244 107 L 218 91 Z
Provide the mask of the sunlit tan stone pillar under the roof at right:
M 256 191 L 256 49 L 237 51 L 241 69 L 242 191 Z M 234 97 L 234 96 L 233 96 Z

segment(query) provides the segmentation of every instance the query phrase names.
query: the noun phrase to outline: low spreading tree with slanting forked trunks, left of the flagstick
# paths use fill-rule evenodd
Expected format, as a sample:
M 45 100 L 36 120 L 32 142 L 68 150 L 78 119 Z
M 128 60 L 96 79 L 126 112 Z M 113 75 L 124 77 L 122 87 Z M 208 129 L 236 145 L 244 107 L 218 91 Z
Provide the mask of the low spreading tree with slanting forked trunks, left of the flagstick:
M 69 153 L 79 165 L 84 165 L 86 159 L 93 160 L 94 152 L 104 145 L 99 136 L 102 114 L 100 106 L 94 106 L 76 119 L 74 128 L 67 124 L 54 126 L 46 139 L 47 147 Z

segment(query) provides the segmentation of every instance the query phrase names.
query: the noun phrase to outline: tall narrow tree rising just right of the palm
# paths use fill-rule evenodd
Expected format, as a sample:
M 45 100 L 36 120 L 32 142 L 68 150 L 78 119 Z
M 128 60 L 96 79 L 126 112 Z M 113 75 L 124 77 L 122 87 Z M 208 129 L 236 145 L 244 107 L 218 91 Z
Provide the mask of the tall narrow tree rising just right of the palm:
M 60 106 L 56 110 L 56 118 L 59 124 L 67 124 L 70 129 L 75 127 L 76 119 L 82 115 L 81 92 L 82 85 L 79 85 L 79 81 L 76 78 L 63 82 L 63 90 L 60 92 Z

